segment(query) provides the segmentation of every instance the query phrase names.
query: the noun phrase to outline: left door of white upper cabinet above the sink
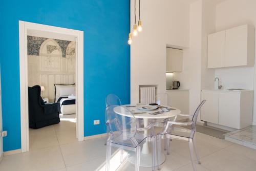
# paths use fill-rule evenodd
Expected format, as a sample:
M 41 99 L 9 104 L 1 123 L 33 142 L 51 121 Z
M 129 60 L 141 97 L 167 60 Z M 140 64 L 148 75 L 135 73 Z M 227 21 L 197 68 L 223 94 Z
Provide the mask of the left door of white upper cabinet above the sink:
M 225 36 L 226 31 L 208 35 L 207 68 L 225 67 Z

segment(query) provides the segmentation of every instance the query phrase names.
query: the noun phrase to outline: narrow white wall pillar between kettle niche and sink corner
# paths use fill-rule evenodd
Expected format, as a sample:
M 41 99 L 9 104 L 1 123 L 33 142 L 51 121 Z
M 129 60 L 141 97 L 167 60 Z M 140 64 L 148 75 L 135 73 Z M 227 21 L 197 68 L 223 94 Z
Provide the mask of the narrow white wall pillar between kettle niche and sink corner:
M 183 71 L 175 73 L 174 80 L 181 82 L 180 89 L 189 89 L 192 114 L 201 100 L 202 1 L 191 4 L 189 11 L 189 48 L 183 49 Z

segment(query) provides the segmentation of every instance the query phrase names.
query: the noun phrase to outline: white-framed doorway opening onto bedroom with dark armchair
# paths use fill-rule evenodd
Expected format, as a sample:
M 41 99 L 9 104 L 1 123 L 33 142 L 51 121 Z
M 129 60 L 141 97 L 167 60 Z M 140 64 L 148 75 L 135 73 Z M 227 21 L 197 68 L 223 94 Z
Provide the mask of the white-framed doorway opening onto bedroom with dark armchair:
M 22 153 L 82 141 L 83 32 L 19 21 L 19 51 Z

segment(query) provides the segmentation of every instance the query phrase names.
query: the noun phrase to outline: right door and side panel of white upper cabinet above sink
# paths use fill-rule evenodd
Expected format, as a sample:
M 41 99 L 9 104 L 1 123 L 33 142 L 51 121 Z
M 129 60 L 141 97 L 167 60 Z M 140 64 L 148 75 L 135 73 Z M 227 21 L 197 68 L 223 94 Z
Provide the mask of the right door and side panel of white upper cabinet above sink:
M 254 66 L 254 27 L 226 30 L 225 67 Z

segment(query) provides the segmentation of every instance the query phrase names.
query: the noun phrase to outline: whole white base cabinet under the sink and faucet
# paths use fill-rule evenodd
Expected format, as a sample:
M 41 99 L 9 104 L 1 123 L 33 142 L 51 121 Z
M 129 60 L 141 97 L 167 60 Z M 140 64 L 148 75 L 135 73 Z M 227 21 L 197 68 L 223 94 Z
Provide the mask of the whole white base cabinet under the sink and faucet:
M 253 91 L 203 90 L 201 96 L 201 120 L 234 129 L 252 124 Z

